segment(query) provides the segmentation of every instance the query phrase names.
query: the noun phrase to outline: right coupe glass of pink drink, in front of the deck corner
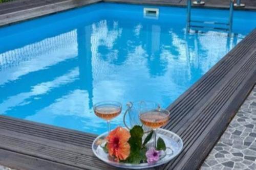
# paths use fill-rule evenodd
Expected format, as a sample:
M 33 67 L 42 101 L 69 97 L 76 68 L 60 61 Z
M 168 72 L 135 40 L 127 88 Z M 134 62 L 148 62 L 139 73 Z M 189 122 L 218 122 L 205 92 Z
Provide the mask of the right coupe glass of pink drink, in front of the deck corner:
M 157 145 L 156 131 L 158 128 L 167 124 L 169 120 L 169 114 L 170 112 L 168 110 L 161 108 L 144 110 L 139 113 L 141 123 L 153 130 L 154 147 Z

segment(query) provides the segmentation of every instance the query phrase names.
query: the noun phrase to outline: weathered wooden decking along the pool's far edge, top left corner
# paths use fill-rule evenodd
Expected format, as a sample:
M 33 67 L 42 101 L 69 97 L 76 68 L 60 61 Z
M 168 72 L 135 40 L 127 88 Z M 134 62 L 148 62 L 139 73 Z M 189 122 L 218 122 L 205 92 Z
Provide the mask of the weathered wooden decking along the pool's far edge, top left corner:
M 17 0 L 0 4 L 0 27 L 78 8 L 102 0 Z

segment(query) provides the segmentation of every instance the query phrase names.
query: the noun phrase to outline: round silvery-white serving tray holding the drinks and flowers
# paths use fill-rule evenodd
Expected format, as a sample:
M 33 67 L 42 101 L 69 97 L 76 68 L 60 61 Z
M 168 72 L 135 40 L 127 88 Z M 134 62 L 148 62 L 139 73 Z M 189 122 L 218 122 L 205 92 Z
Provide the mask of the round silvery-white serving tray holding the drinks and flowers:
M 108 132 L 105 132 L 99 135 L 93 141 L 93 144 L 92 144 L 93 153 L 97 158 L 104 161 L 105 163 L 108 163 L 116 167 L 121 167 L 121 168 L 141 169 L 141 168 L 159 166 L 172 160 L 181 152 L 183 148 L 183 141 L 180 138 L 180 136 L 178 136 L 177 134 L 171 131 L 160 128 L 157 130 L 157 137 L 161 137 L 165 142 L 166 148 L 171 148 L 173 152 L 170 149 L 166 149 L 166 156 L 164 156 L 162 159 L 160 159 L 154 164 L 150 164 L 150 163 L 132 164 L 132 163 L 114 162 L 109 159 L 108 154 L 103 151 L 100 145 L 97 144 L 97 141 L 103 140 L 107 135 L 108 135 Z

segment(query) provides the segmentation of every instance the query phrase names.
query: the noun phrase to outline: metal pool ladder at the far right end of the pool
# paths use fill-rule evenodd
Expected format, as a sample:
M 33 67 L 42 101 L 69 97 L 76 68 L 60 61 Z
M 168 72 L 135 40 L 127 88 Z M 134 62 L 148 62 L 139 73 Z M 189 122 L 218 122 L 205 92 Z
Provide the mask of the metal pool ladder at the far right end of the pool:
M 233 9 L 234 9 L 234 0 L 230 0 L 229 5 L 229 19 L 228 22 L 218 22 L 218 21 L 200 21 L 200 20 L 191 20 L 191 0 L 187 0 L 187 32 L 190 29 L 194 29 L 196 31 L 200 29 L 211 29 L 211 30 L 221 30 L 226 31 L 229 34 L 232 32 L 233 25 Z M 201 25 L 196 25 L 201 24 Z

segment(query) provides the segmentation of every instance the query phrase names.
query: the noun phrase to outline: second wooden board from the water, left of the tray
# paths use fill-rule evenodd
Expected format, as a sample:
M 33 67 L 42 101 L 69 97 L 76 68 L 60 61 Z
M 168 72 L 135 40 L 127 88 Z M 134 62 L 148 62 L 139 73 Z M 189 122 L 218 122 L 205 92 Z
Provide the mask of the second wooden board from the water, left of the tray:
M 77 147 L 72 144 L 38 138 L 32 135 L 10 133 L 10 131 L 5 130 L 1 131 L 0 140 L 2 149 L 26 153 L 26 155 L 44 158 L 55 163 L 73 165 L 85 169 L 106 167 L 100 160 L 94 160 L 91 145 Z

